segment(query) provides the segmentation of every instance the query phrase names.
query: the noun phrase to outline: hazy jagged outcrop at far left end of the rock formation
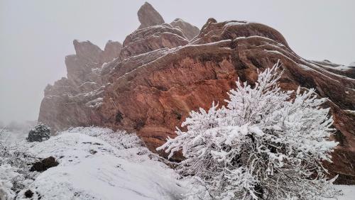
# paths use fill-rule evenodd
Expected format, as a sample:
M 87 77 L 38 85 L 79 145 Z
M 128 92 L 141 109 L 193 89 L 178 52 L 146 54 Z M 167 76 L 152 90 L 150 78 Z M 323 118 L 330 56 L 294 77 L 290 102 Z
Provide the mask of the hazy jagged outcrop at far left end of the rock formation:
M 71 126 L 101 123 L 97 111 L 107 84 L 107 62 L 119 57 L 122 45 L 107 42 L 104 50 L 89 41 L 74 40 L 75 55 L 65 57 L 67 78 L 48 84 L 40 104 L 38 121 L 52 128 L 52 133 Z M 106 69 L 104 71 L 103 69 Z

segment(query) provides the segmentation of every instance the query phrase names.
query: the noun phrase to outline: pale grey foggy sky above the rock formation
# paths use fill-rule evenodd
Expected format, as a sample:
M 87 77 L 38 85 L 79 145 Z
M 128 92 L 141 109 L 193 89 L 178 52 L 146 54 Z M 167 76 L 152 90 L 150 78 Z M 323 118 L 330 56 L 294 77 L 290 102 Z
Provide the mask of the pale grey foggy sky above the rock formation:
M 66 76 L 72 40 L 104 48 L 138 28 L 144 1 L 0 0 L 0 121 L 35 120 L 43 89 Z M 170 23 L 182 18 L 201 28 L 207 18 L 265 23 L 298 55 L 347 65 L 355 61 L 355 1 L 155 1 Z M 1 122 L 0 122 L 1 123 Z

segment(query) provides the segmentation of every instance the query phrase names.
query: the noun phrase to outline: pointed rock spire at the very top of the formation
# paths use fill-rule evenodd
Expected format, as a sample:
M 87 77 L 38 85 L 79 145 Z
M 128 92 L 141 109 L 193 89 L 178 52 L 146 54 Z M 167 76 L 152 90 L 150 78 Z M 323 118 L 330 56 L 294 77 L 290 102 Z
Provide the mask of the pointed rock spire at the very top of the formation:
M 163 17 L 160 16 L 160 13 L 158 13 L 158 11 L 156 11 L 148 2 L 141 6 L 137 14 L 138 20 L 141 22 L 141 26 L 139 26 L 139 28 L 146 28 L 165 23 Z

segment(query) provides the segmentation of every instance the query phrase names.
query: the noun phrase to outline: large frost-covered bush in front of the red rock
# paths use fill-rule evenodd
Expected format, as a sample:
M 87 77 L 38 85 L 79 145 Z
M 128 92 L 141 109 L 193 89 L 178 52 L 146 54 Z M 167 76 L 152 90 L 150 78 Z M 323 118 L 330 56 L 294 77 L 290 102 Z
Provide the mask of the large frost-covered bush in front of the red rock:
M 281 91 L 274 65 L 255 87 L 236 82 L 227 106 L 192 111 L 176 138 L 157 150 L 182 150 L 178 167 L 204 185 L 202 199 L 322 199 L 337 196 L 322 161 L 337 145 L 333 120 L 314 89 Z M 294 98 L 291 96 L 295 92 Z M 201 196 L 201 195 L 200 195 Z

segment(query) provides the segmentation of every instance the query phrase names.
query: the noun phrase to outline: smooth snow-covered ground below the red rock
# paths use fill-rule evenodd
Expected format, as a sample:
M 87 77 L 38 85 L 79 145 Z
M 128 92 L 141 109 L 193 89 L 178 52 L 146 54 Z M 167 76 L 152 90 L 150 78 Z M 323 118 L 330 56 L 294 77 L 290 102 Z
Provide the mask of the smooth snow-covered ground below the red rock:
M 35 180 L 28 181 L 15 195 L 16 199 L 26 199 L 24 193 L 28 189 L 33 191 L 33 199 L 61 200 L 184 199 L 184 194 L 197 191 L 195 185 L 179 179 L 133 134 L 105 128 L 74 128 L 42 143 L 23 142 L 21 146 L 36 157 L 53 156 L 60 164 L 36 174 Z M 16 177 L 10 167 L 0 166 L 0 175 L 1 169 L 4 172 L 0 186 L 9 187 L 11 183 L 6 179 Z M 354 186 L 339 188 L 345 194 L 339 199 L 354 199 Z

